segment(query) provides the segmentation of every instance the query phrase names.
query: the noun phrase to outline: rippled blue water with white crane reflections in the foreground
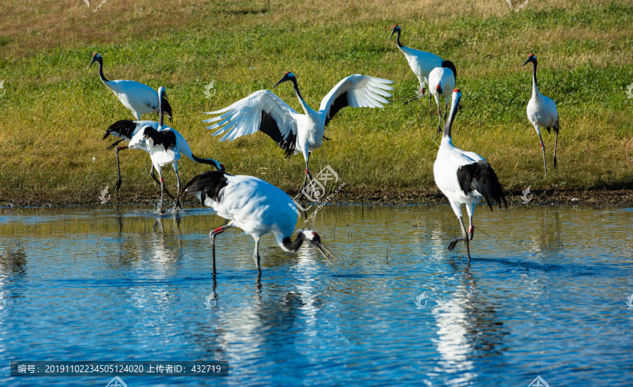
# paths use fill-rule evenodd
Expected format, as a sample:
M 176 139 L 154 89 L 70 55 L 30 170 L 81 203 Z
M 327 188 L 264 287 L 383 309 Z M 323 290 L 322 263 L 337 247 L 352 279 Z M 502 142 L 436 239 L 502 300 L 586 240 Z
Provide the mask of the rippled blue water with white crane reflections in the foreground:
M 214 281 L 208 232 L 224 221 L 187 211 L 1 210 L 0 385 L 112 379 L 11 378 L 11 360 L 230 364 L 129 387 L 630 385 L 633 211 L 478 206 L 468 265 L 461 244 L 445 251 L 449 206 L 328 206 L 312 227 L 333 263 L 268 235 L 260 281 L 236 229 L 217 238 Z

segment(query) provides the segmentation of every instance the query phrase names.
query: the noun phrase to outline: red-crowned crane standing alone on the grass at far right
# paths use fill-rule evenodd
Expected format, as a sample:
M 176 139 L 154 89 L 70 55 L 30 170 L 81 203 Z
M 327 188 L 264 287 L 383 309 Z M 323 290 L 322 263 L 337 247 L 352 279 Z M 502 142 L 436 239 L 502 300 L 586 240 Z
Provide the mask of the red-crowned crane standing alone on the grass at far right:
M 558 110 L 556 110 L 556 103 L 549 97 L 546 97 L 539 93 L 539 88 L 536 81 L 536 67 L 537 58 L 536 55 L 530 54 L 528 60 L 521 65 L 521 67 L 528 63 L 534 64 L 534 70 L 532 70 L 532 98 L 528 102 L 528 119 L 535 131 L 539 135 L 539 145 L 543 151 L 543 166 L 545 168 L 545 176 L 547 176 L 547 163 L 545 162 L 545 144 L 541 136 L 541 128 L 547 129 L 547 133 L 551 133 L 550 129 L 554 128 L 556 134 L 556 140 L 554 142 L 554 169 L 556 169 L 556 145 L 558 145 Z

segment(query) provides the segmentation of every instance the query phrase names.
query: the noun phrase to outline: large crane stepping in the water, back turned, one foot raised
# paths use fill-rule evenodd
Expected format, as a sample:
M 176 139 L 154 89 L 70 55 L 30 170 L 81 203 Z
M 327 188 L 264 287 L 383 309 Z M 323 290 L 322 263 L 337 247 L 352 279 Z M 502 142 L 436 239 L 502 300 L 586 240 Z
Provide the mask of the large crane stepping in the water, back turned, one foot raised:
M 457 113 L 459 100 L 461 99 L 459 88 L 453 91 L 452 99 L 451 113 L 448 121 L 445 122 L 442 143 L 440 144 L 440 150 L 437 151 L 437 158 L 433 165 L 433 176 L 435 177 L 437 188 L 440 188 L 440 191 L 449 199 L 461 225 L 463 237 L 454 238 L 449 244 L 448 250 L 454 249 L 457 242 L 463 241 L 466 244 L 468 262 L 470 262 L 471 249 L 468 241 L 473 239 L 475 232 L 473 226 L 475 204 L 478 204 L 483 198 L 490 206 L 490 211 L 492 211 L 493 199 L 499 204 L 499 208 L 501 208 L 501 200 L 506 205 L 506 209 L 508 208 L 508 203 L 506 202 L 504 189 L 501 188 L 497 173 L 494 173 L 492 166 L 480 155 L 474 152 L 465 152 L 453 145 L 451 127 Z M 466 205 L 466 212 L 468 213 L 468 232 L 466 232 L 466 227 L 463 225 L 463 218 L 461 217 L 462 204 Z

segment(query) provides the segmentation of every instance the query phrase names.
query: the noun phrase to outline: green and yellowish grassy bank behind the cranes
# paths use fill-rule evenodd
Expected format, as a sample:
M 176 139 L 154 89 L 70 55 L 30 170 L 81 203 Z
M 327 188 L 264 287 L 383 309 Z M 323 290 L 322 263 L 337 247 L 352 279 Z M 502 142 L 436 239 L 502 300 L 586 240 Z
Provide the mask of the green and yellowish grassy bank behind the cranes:
M 0 19 L 0 202 L 98 202 L 116 179 L 103 131 L 132 119 L 87 70 L 103 55 L 108 79 L 165 86 L 174 129 L 200 157 L 230 173 L 260 176 L 294 192 L 300 155 L 283 159 L 263 133 L 219 143 L 202 112 L 217 110 L 284 72 L 298 77 L 313 108 L 354 73 L 395 81 L 382 110 L 347 109 L 326 129 L 332 138 L 311 166 L 338 171 L 345 190 L 437 192 L 433 162 L 440 137 L 434 105 L 402 105 L 416 78 L 394 41 L 452 60 L 463 92 L 454 143 L 485 157 L 508 190 L 633 188 L 633 2 L 530 0 L 518 12 L 504 0 L 445 1 L 82 1 L 5 2 Z M 516 4 L 514 5 L 516 7 Z M 96 9 L 96 12 L 92 12 Z M 543 176 L 537 135 L 525 116 L 531 71 L 561 117 L 558 171 Z M 205 98 L 214 81 L 215 95 Z M 295 110 L 289 84 L 275 89 Z M 0 94 L 2 91 L 0 91 Z M 144 119 L 155 119 L 149 115 Z M 554 135 L 544 133 L 548 162 Z M 122 199 L 155 194 L 149 158 L 122 152 Z M 179 163 L 182 180 L 206 170 Z M 173 171 L 165 172 L 175 184 Z

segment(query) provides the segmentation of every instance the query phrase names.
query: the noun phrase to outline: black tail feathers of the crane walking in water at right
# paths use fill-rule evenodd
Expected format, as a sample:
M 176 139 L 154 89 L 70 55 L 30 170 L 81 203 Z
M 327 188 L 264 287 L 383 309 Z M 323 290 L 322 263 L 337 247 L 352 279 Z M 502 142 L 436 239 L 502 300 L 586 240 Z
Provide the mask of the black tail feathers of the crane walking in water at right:
M 494 173 L 492 166 L 485 160 L 460 166 L 457 170 L 457 181 L 459 181 L 459 186 L 465 195 L 468 195 L 468 192 L 473 190 L 479 192 L 486 200 L 490 211 L 492 211 L 493 200 L 497 202 L 499 208 L 501 208 L 502 201 L 506 209 L 508 208 L 506 194 L 504 194 L 504 188 L 499 183 L 497 173 Z

